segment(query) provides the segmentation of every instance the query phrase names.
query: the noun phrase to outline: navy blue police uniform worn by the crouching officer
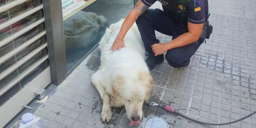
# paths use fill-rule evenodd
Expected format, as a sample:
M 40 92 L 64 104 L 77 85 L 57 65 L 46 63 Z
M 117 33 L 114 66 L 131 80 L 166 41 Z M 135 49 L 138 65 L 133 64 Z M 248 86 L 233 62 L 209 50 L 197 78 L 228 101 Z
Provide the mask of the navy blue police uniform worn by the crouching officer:
M 158 1 L 161 2 L 164 11 L 148 9 L 136 21 L 145 50 L 149 55 L 154 54 L 151 45 L 159 43 L 155 36 L 155 30 L 175 39 L 188 31 L 187 22 L 202 24 L 208 16 L 207 0 L 183 0 L 188 1 L 186 5 L 180 3 L 182 0 Z M 156 0 L 141 0 L 141 2 L 150 7 Z M 187 46 L 168 50 L 165 56 L 167 62 L 173 67 L 186 66 L 190 62 L 190 57 L 202 43 L 203 40 L 198 40 Z M 159 55 L 155 58 L 162 56 Z

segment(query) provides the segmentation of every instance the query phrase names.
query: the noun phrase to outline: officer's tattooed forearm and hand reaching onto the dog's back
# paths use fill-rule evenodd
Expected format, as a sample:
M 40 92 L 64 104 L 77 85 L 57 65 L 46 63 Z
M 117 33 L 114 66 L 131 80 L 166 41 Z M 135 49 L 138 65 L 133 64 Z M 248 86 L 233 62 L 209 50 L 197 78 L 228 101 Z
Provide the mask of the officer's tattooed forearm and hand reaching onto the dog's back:
M 126 33 L 128 30 L 132 27 L 134 22 L 137 20 L 137 18 L 142 15 L 149 7 L 141 2 L 141 0 L 138 0 L 134 8 L 131 10 L 131 12 L 127 15 L 125 18 L 122 27 L 117 35 L 118 39 L 124 39 Z

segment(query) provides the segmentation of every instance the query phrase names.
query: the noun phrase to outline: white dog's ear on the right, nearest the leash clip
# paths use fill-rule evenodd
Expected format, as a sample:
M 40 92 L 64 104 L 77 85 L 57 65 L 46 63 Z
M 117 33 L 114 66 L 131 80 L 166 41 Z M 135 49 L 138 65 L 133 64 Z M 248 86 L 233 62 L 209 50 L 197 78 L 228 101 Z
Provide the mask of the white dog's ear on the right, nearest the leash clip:
M 144 83 L 144 85 L 146 86 L 146 99 L 145 100 L 148 101 L 151 96 L 151 91 L 152 91 L 152 87 L 153 87 L 153 78 L 150 74 L 141 72 L 141 73 L 139 73 L 139 80 L 142 81 Z

